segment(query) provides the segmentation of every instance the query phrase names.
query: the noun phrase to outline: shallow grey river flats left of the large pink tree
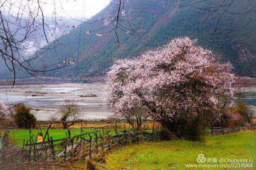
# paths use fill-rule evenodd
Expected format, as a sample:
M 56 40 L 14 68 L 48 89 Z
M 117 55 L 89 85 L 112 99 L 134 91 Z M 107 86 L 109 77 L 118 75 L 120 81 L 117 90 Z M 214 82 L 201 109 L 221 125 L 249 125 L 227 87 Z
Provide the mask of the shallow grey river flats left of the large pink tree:
M 65 99 L 74 99 L 81 108 L 81 118 L 100 119 L 107 118 L 112 114 L 104 103 L 105 84 L 59 84 L 59 85 L 27 85 L 0 86 L 0 99 L 6 104 L 24 102 L 31 108 L 38 120 L 47 120 L 50 115 L 59 117 L 58 106 Z M 80 97 L 85 94 L 96 94 L 97 97 Z

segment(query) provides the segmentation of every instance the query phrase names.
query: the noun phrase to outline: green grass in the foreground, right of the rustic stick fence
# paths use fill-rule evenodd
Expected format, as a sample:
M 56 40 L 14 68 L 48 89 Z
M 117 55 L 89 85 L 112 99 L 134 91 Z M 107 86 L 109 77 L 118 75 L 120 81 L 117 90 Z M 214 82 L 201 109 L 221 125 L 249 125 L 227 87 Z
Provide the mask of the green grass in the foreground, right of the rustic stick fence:
M 198 165 L 199 163 L 196 162 L 198 154 L 204 154 L 206 159 L 217 158 L 217 165 L 221 164 L 219 163 L 220 158 L 254 159 L 253 167 L 249 169 L 256 169 L 256 132 L 246 131 L 207 136 L 204 143 L 174 140 L 126 146 L 107 154 L 106 163 L 101 163 L 101 165 L 108 169 L 128 168 L 132 170 L 208 169 L 185 167 L 184 164 Z

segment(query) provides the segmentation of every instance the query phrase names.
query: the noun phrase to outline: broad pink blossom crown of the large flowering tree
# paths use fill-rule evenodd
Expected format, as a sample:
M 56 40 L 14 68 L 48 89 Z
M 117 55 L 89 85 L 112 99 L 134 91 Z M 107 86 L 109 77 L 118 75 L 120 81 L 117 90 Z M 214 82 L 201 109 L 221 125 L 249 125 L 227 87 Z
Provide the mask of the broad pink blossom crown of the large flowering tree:
M 109 108 L 122 115 L 147 107 L 153 119 L 172 121 L 218 109 L 220 94 L 232 99 L 232 65 L 196 43 L 175 38 L 137 58 L 116 60 L 107 73 Z

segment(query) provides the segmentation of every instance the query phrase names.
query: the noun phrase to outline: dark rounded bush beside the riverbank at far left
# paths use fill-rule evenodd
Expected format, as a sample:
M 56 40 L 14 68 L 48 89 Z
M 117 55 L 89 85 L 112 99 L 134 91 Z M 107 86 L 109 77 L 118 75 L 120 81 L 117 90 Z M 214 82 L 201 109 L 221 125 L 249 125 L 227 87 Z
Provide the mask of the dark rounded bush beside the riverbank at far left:
M 32 128 L 35 127 L 37 119 L 30 113 L 30 109 L 23 104 L 16 107 L 16 114 L 13 119 L 19 128 Z

